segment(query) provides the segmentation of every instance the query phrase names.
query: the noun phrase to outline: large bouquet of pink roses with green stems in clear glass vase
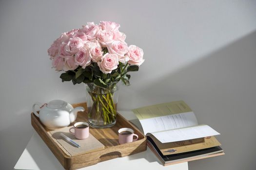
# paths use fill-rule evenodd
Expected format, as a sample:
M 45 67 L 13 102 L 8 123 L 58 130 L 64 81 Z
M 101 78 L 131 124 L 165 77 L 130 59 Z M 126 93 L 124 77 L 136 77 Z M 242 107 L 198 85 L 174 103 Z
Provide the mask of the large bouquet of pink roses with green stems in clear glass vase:
M 127 73 L 138 71 L 144 62 L 142 49 L 135 45 L 128 47 L 124 41 L 126 35 L 119 27 L 110 21 L 101 21 L 99 25 L 88 22 L 80 29 L 62 33 L 48 49 L 53 68 L 65 71 L 60 75 L 62 82 L 87 85 L 92 100 L 89 123 L 95 121 L 92 115 L 95 112 L 99 124 L 113 124 L 116 84 L 121 80 L 130 85 L 131 76 Z

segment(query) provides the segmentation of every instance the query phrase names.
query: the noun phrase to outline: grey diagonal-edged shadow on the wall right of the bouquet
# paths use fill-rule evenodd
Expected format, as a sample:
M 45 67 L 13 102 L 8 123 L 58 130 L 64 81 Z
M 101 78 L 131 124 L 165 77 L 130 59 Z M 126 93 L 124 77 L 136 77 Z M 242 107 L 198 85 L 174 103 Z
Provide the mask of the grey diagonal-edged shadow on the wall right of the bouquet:
M 256 32 L 133 93 L 124 103 L 184 100 L 199 123 L 221 133 L 226 155 L 190 162 L 190 170 L 255 169 Z

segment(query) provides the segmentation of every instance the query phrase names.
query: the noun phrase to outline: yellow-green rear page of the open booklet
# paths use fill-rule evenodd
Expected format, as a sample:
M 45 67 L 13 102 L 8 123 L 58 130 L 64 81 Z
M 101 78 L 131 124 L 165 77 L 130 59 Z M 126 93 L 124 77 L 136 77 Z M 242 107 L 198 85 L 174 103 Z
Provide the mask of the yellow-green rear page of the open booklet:
M 192 112 L 190 107 L 183 101 L 168 102 L 132 110 L 139 120 L 156 118 L 178 113 Z M 144 128 L 144 127 L 143 127 Z

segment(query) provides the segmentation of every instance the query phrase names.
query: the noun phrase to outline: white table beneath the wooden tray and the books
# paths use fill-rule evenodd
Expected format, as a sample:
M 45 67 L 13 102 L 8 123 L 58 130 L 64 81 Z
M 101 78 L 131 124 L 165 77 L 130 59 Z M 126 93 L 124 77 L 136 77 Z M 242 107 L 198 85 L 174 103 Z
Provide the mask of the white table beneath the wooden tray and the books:
M 136 119 L 130 111 L 119 111 L 119 113 L 128 120 Z M 111 159 L 79 170 L 132 170 L 138 167 L 143 167 L 145 170 L 188 170 L 188 163 L 164 167 L 155 154 L 147 148 L 142 153 Z M 64 170 L 64 168 L 37 132 L 34 132 L 14 170 Z

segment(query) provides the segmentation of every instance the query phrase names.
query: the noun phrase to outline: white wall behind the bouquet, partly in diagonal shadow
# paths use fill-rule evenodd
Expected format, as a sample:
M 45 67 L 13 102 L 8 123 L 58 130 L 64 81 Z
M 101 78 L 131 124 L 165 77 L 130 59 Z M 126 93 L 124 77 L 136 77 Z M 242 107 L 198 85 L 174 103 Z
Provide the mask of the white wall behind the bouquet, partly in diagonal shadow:
M 221 136 L 226 155 L 190 170 L 255 170 L 255 0 L 0 1 L 0 167 L 12 169 L 33 134 L 34 102 L 83 102 L 61 83 L 47 49 L 88 21 L 121 25 L 146 61 L 121 86 L 119 109 L 184 100 Z

